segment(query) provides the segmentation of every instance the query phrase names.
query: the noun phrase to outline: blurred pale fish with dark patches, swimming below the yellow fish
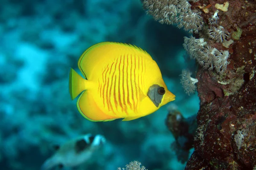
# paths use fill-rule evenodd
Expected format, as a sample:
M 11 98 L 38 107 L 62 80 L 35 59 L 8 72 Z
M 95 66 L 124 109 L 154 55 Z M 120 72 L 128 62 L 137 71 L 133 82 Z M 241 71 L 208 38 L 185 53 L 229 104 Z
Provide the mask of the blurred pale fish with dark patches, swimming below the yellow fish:
M 50 170 L 53 167 L 77 167 L 91 158 L 93 152 L 102 144 L 105 138 L 102 135 L 87 134 L 70 140 L 61 145 L 56 153 L 47 159 L 41 170 Z

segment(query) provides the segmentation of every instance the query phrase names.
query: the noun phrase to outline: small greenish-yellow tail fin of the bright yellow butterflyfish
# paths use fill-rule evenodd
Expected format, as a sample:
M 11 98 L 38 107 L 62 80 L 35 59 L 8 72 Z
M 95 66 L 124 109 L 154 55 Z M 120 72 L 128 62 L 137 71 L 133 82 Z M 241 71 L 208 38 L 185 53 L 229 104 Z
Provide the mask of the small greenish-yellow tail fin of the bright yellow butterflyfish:
M 73 68 L 70 70 L 69 90 L 71 99 L 75 99 L 82 91 L 86 90 L 85 82 L 87 80 L 81 77 Z

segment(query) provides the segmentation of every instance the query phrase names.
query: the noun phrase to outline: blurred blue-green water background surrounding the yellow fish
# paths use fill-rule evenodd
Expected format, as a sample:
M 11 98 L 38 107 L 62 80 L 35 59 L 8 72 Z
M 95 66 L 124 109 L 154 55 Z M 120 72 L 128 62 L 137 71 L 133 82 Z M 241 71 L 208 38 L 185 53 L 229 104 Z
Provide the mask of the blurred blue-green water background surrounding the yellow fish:
M 106 143 L 79 170 L 116 170 L 134 160 L 148 170 L 183 170 L 193 146 L 180 160 L 173 144 L 182 132 L 172 135 L 167 118 L 173 108 L 182 119 L 199 110 L 197 93 L 188 96 L 180 84 L 183 69 L 196 70 L 185 36 L 189 32 L 147 15 L 140 0 L 1 0 L 0 169 L 39 170 L 53 146 L 92 133 Z M 86 48 L 103 41 L 151 54 L 176 95 L 172 105 L 129 122 L 84 119 L 68 93 L 69 71 L 78 69 Z

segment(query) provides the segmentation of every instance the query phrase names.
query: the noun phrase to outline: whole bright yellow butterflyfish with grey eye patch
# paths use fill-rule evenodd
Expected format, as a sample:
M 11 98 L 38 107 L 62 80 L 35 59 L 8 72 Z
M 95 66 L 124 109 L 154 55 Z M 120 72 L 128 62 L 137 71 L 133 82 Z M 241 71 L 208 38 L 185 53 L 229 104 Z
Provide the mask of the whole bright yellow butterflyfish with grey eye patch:
M 157 63 L 143 49 L 119 42 L 95 44 L 71 68 L 70 96 L 90 121 L 133 120 L 157 111 L 175 100 L 163 81 Z

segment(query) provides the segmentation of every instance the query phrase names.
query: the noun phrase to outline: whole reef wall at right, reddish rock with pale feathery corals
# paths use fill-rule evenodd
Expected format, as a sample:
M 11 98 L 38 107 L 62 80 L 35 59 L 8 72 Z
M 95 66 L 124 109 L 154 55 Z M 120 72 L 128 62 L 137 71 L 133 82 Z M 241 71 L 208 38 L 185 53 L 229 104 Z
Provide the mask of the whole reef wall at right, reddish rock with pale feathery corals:
M 155 20 L 177 24 L 193 33 L 184 37 L 183 46 L 190 58 L 198 63 L 196 79 L 200 110 L 195 151 L 186 169 L 255 168 L 255 1 L 197 0 L 187 2 L 186 9 L 182 8 L 183 0 L 142 2 Z M 170 9 L 177 14 L 170 13 Z M 191 14 L 192 11 L 196 13 Z M 187 15 L 194 16 L 189 18 L 192 23 L 184 20 Z M 195 18 L 200 24 L 193 22 Z M 187 26 L 182 24 L 184 22 Z M 187 79 L 190 78 L 187 76 Z M 186 90 L 187 86 L 184 87 Z

